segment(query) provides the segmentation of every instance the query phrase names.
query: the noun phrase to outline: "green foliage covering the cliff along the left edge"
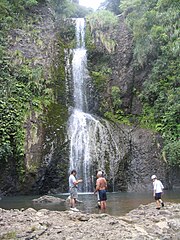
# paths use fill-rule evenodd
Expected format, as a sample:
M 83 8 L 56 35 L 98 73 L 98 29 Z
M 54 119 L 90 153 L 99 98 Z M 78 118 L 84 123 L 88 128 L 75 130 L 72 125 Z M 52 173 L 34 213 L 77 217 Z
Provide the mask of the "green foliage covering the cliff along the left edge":
M 25 173 L 24 122 L 31 111 L 42 111 L 42 106 L 48 104 L 49 93 L 42 67 L 33 66 L 19 50 L 13 56 L 9 54 L 8 31 L 17 26 L 23 28 L 26 10 L 37 3 L 34 0 L 0 3 L 0 168 L 13 164 L 19 180 L 23 180 Z M 20 64 L 15 64 L 15 60 Z

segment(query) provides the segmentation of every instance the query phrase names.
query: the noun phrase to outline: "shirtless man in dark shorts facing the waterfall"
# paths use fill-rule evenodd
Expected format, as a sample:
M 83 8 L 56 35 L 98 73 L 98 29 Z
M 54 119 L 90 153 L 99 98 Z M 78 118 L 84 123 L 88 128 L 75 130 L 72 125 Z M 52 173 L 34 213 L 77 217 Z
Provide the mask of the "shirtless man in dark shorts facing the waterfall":
M 100 199 L 100 204 L 101 204 L 101 209 L 106 209 L 106 188 L 107 188 L 107 182 L 104 177 L 102 177 L 102 172 L 99 171 L 97 173 L 97 180 L 96 180 L 96 189 L 94 191 L 94 194 L 98 192 L 99 194 L 99 199 Z

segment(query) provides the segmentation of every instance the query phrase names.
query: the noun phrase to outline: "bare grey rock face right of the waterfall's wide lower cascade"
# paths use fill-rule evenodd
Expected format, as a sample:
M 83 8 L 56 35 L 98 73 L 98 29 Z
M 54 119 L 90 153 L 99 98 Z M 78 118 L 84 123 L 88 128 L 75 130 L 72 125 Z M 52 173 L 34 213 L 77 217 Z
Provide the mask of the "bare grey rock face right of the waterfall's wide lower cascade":
M 165 188 L 169 188 L 166 163 L 161 160 L 158 136 L 137 127 L 125 125 L 111 127 L 120 157 L 114 162 L 114 179 L 108 179 L 111 182 L 109 190 L 151 190 L 152 174 L 157 174 Z

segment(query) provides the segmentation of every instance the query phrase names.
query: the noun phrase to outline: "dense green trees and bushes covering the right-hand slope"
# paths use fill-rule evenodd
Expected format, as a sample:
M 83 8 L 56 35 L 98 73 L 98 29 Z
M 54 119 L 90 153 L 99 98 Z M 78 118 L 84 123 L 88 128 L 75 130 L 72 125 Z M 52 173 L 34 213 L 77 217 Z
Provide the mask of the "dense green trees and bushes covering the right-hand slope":
M 140 94 L 141 124 L 160 132 L 169 164 L 179 165 L 180 48 L 178 0 L 122 0 L 134 37 L 134 61 L 152 66 Z

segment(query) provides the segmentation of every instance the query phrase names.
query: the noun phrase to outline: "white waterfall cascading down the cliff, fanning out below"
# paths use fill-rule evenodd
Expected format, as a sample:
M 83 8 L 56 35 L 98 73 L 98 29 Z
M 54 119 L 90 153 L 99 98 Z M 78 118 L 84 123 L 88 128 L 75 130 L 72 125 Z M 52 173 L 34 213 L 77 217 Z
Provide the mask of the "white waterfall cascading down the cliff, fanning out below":
M 87 56 L 85 49 L 85 21 L 76 19 L 77 47 L 73 50 L 72 80 L 74 107 L 68 121 L 70 139 L 70 171 L 77 170 L 78 178 L 83 179 L 79 186 L 82 192 L 93 191 L 95 171 L 105 170 L 109 161 L 111 178 L 114 176 L 114 160 L 120 153 L 112 139 L 108 122 L 98 120 L 88 113 L 87 99 Z M 103 122 L 103 123 L 102 123 Z

